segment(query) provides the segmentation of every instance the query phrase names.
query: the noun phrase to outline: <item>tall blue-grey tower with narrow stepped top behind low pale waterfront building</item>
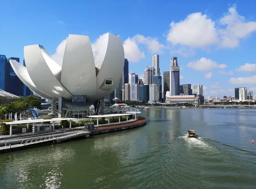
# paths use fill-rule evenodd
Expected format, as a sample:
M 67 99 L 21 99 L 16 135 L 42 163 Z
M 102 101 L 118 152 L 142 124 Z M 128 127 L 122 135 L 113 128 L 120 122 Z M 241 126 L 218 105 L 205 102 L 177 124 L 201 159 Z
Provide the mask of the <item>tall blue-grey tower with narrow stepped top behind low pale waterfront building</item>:
M 171 58 L 170 63 L 170 91 L 172 96 L 180 95 L 180 67 L 177 57 Z

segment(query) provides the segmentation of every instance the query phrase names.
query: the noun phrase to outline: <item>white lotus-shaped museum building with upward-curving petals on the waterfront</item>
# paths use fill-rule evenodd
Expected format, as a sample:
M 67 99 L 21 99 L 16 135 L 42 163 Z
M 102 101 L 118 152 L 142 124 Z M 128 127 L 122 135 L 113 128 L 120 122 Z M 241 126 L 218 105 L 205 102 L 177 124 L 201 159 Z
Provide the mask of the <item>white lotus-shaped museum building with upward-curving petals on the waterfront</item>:
M 68 36 L 61 66 L 41 45 L 25 46 L 24 59 L 26 67 L 10 64 L 30 90 L 52 101 L 53 114 L 85 118 L 97 114 L 101 99 L 115 90 L 125 55 L 121 38 L 108 33 L 95 59 L 85 35 Z

